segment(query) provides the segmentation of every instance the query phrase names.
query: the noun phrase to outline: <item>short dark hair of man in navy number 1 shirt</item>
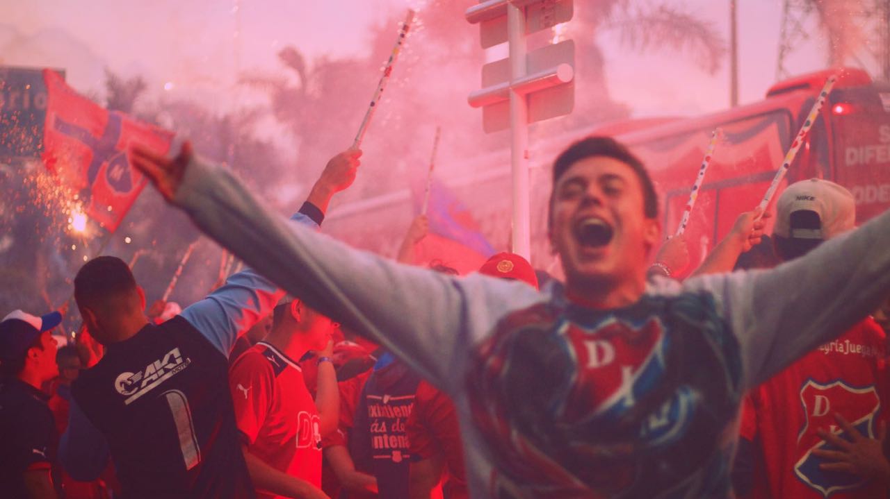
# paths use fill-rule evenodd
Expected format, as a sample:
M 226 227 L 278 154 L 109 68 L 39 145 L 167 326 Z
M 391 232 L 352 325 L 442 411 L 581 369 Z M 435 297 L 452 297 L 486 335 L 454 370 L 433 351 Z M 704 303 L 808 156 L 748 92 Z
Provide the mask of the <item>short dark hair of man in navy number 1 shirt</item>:
M 119 299 L 130 297 L 136 280 L 130 267 L 118 257 L 95 257 L 77 271 L 74 278 L 74 299 L 79 306 L 108 311 L 119 305 Z

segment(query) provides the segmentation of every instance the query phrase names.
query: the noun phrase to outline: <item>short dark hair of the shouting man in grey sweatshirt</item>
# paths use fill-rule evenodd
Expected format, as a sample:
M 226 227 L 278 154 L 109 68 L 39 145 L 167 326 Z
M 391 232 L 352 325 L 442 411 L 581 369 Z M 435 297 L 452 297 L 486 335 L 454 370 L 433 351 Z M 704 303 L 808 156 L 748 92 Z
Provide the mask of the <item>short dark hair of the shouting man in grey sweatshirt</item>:
M 550 191 L 549 207 L 553 209 L 554 197 L 556 193 L 556 183 L 562 175 L 569 170 L 571 165 L 583 159 L 595 156 L 604 156 L 623 162 L 634 170 L 636 177 L 640 180 L 640 186 L 643 187 L 643 213 L 646 218 L 658 218 L 659 216 L 659 196 L 655 193 L 655 185 L 649 177 L 649 172 L 640 158 L 630 152 L 627 147 L 618 140 L 611 137 L 587 137 L 587 139 L 578 140 L 556 158 L 554 162 L 553 187 Z M 549 226 L 550 217 L 547 217 Z

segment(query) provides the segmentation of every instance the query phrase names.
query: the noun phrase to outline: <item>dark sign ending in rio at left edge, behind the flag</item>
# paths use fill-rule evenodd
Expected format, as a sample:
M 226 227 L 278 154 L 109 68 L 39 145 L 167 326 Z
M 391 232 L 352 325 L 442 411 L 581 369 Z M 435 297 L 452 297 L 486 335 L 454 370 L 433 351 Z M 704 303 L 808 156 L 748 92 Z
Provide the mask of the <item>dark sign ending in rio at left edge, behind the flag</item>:
M 42 71 L 0 66 L 0 158 L 37 157 L 43 151 L 47 95 Z

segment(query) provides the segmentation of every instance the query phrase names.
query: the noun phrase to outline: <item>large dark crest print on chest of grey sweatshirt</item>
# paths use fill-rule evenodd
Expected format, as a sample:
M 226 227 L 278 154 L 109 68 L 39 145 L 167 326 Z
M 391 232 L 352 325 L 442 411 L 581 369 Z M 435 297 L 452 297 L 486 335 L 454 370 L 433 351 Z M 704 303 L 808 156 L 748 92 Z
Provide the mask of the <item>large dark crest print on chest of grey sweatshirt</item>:
M 741 367 L 713 296 L 558 303 L 500 321 L 467 380 L 491 494 L 727 497 Z

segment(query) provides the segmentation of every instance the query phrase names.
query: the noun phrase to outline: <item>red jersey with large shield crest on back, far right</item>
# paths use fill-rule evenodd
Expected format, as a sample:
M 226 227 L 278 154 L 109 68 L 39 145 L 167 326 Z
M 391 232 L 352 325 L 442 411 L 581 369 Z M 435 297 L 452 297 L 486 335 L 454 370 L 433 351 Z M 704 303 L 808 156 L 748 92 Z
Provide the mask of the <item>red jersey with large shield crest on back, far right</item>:
M 886 497 L 878 483 L 822 471 L 813 450 L 835 450 L 816 433 L 838 432 L 835 413 L 870 438 L 886 397 L 885 338 L 872 319 L 821 345 L 752 390 L 741 417 L 741 437 L 759 440 L 753 497 L 847 499 Z M 758 471 L 759 470 L 759 471 Z

